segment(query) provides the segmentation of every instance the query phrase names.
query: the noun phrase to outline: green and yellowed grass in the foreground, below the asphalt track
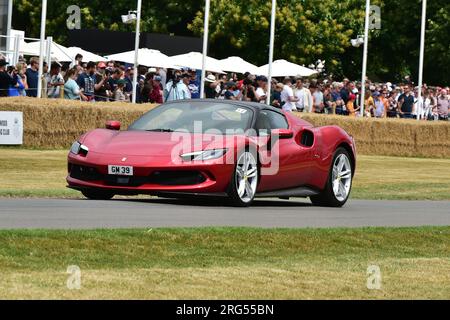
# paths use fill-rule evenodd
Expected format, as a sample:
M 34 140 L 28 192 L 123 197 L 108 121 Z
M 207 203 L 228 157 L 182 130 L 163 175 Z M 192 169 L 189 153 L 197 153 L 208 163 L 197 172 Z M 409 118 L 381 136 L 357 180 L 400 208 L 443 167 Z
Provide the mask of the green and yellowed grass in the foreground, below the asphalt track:
M 450 299 L 450 227 L 0 231 L 0 270 L 12 299 Z

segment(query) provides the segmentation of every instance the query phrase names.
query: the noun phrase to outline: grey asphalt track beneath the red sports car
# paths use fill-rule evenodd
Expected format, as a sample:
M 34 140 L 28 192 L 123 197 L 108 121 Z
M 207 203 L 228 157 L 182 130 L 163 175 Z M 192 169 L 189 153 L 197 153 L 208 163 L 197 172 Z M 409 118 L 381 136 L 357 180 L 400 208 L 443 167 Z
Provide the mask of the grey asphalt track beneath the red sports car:
M 152 227 L 366 227 L 450 225 L 450 201 L 349 201 L 344 208 L 307 200 L 257 200 L 250 208 L 217 201 L 0 199 L 0 229 Z

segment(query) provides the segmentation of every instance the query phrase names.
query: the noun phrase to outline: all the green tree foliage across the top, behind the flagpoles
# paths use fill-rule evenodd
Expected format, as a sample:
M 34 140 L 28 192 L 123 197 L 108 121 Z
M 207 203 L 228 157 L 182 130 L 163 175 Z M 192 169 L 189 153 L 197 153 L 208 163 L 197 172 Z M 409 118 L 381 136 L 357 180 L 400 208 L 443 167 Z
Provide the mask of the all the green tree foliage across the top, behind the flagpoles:
M 28 36 L 39 36 L 41 0 L 15 0 L 13 26 Z M 361 76 L 362 48 L 350 39 L 363 32 L 363 0 L 278 0 L 275 59 L 309 65 L 326 60 L 327 71 L 337 77 Z M 421 0 L 372 0 L 381 7 L 381 30 L 371 31 L 368 75 L 372 79 L 417 79 Z M 100 0 L 79 0 L 83 29 L 133 31 L 120 15 L 136 6 L 135 0 L 108 5 Z M 67 40 L 64 0 L 48 6 L 47 34 L 63 44 Z M 201 36 L 203 5 L 199 0 L 144 1 L 142 31 Z M 210 53 L 217 58 L 239 55 L 261 65 L 267 63 L 271 1 L 211 0 Z M 428 2 L 425 81 L 450 83 L 450 3 Z

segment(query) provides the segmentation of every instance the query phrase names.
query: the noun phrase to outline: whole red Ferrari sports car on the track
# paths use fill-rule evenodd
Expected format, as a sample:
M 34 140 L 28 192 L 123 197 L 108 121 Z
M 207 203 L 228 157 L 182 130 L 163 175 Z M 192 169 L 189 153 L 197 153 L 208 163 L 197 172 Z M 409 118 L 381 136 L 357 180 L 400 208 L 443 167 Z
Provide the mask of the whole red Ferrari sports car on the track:
M 229 100 L 182 100 L 145 113 L 126 131 L 108 121 L 73 143 L 68 187 L 89 199 L 114 195 L 309 197 L 341 207 L 355 173 L 353 138 L 291 113 Z

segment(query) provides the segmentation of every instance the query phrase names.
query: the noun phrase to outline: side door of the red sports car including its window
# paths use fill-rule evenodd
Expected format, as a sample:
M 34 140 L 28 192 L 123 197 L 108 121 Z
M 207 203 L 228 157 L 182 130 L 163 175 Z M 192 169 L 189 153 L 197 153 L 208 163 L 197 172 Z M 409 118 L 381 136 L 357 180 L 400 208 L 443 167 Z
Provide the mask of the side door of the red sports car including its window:
M 258 114 L 255 129 L 259 141 L 266 141 L 266 145 L 259 145 L 261 181 L 258 190 L 286 189 L 305 184 L 309 163 L 306 158 L 310 152 L 296 142 L 298 128 L 290 128 L 281 112 L 263 109 Z M 293 135 L 264 139 L 264 135 L 269 135 L 274 129 L 292 129 Z

